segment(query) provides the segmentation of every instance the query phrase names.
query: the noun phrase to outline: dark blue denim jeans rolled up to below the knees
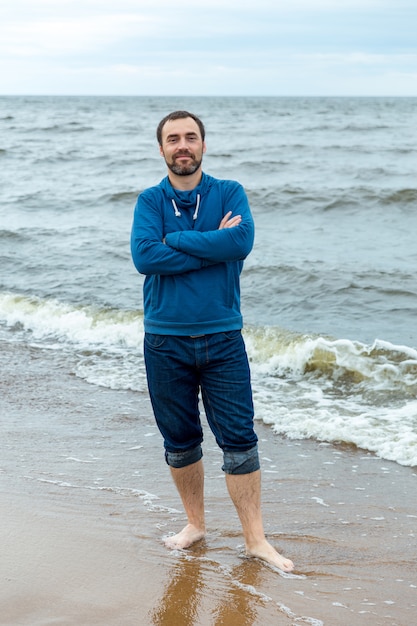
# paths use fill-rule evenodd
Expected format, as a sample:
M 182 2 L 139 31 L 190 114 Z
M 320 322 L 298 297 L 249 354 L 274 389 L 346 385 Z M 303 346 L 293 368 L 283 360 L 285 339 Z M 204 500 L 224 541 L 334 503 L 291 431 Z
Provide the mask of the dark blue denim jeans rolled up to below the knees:
M 240 330 L 198 337 L 145 334 L 148 388 L 166 460 L 185 467 L 202 456 L 199 392 L 223 450 L 223 470 L 259 469 L 250 370 Z

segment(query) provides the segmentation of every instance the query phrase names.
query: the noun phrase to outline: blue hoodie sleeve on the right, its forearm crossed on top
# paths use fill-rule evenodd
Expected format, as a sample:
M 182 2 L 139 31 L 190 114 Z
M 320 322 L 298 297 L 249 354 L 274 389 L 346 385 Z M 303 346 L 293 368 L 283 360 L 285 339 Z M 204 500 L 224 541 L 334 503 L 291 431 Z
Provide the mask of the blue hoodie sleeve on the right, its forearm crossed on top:
M 205 232 L 184 230 L 168 233 L 167 245 L 207 263 L 245 259 L 253 247 L 255 228 L 243 187 L 239 183 L 225 187 L 223 203 L 223 215 L 232 211 L 232 217 L 242 216 L 238 226 Z

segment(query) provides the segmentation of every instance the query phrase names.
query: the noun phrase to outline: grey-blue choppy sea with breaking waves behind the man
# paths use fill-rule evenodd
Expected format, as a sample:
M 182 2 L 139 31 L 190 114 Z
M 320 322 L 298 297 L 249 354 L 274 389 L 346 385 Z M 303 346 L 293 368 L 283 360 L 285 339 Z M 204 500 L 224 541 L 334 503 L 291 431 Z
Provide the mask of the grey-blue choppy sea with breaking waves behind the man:
M 256 420 L 417 466 L 416 98 L 1 97 L 0 349 L 147 394 L 129 237 L 175 109 L 203 119 L 204 170 L 253 211 Z

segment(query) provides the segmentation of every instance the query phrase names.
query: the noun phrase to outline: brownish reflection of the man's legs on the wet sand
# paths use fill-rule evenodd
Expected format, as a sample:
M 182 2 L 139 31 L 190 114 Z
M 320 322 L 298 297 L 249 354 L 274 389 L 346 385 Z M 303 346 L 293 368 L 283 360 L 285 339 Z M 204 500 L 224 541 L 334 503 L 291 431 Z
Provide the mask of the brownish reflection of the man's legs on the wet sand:
M 254 626 L 258 608 L 270 600 L 255 590 L 263 565 L 244 559 L 228 568 L 206 553 L 200 547 L 192 556 L 179 556 L 159 604 L 150 612 L 154 626 Z

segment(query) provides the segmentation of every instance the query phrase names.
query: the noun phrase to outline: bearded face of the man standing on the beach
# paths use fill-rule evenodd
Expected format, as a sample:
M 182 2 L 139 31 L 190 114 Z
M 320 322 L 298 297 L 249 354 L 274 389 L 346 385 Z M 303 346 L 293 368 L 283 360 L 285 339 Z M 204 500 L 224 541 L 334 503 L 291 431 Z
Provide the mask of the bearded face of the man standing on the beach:
M 165 123 L 159 151 L 171 172 L 177 176 L 190 176 L 200 168 L 206 145 L 197 123 L 191 117 L 185 117 Z

